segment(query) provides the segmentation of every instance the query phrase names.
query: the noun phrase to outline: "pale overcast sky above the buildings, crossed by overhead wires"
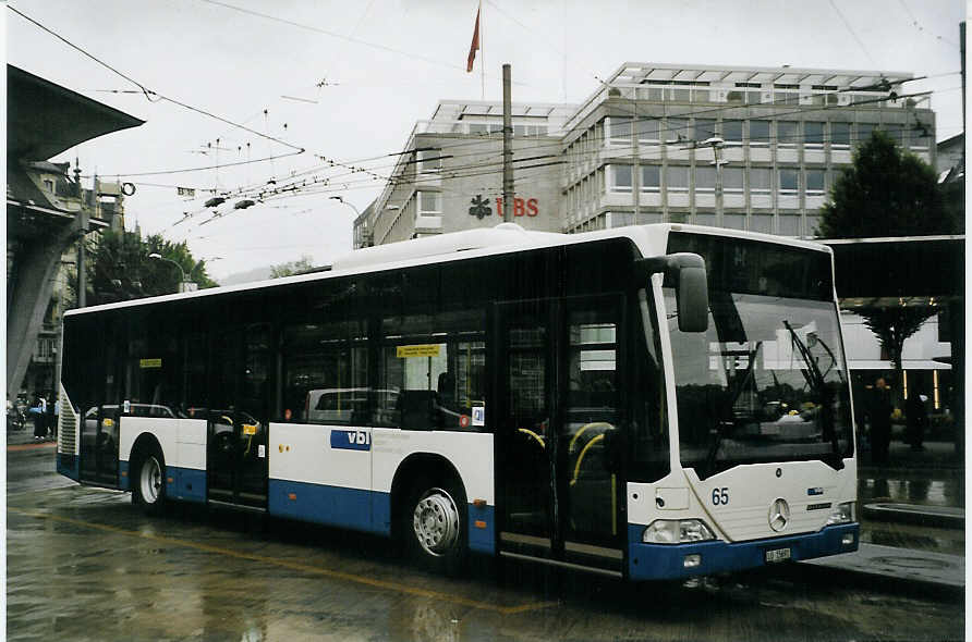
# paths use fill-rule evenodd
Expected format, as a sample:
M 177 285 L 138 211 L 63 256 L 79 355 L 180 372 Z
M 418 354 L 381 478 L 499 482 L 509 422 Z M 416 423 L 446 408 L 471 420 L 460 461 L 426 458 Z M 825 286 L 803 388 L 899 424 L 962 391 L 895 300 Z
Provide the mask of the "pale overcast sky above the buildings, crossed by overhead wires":
M 509 62 L 514 102 L 580 102 L 597 87 L 595 76 L 610 75 L 624 61 L 909 72 L 935 76 L 906 88 L 933 91 L 938 140 L 961 132 L 961 0 L 484 0 L 485 52 L 467 74 L 477 5 L 9 2 L 143 87 L 253 132 L 148 101 L 133 83 L 10 10 L 7 54 L 13 65 L 146 121 L 52 160 L 77 158 L 85 175 L 135 183 L 136 194 L 125 201 L 129 226 L 137 221 L 144 233 L 186 239 L 197 258 L 221 257 L 208 266 L 217 279 L 302 255 L 326 263 L 350 249 L 354 212 L 328 196 L 367 207 L 381 186 L 373 174 L 387 175 L 390 161 L 365 159 L 401 150 L 415 122 L 428 119 L 440 99 L 478 100 L 483 59 L 486 99 L 501 99 L 500 70 Z M 293 150 L 258 134 L 306 151 L 219 170 L 132 175 Z M 203 189 L 282 184 L 294 173 L 307 181 L 300 196 L 243 210 L 233 210 L 239 198 L 231 199 L 215 219 L 203 208 L 212 196 Z M 178 186 L 196 188 L 196 198 L 180 197 Z M 184 212 L 191 218 L 175 224 Z

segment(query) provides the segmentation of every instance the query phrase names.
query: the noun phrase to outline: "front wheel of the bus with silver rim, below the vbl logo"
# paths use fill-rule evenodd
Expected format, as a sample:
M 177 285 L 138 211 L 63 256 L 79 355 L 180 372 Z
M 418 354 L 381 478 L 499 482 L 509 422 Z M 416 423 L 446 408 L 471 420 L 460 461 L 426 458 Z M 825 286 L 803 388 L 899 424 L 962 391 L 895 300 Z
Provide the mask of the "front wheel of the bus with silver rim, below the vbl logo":
M 420 480 L 401 511 L 409 556 L 436 572 L 455 575 L 465 564 L 469 533 L 465 493 L 455 480 Z

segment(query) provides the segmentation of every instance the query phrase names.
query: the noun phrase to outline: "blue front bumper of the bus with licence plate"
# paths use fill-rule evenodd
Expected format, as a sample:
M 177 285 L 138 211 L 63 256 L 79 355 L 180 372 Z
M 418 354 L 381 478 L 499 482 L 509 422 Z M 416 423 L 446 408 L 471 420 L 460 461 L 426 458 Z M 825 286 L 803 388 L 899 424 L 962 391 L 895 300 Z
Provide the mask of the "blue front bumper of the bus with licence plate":
M 858 550 L 861 526 L 826 527 L 815 533 L 749 542 L 645 544 L 645 527 L 628 524 L 628 575 L 632 580 L 667 580 L 756 568 L 775 564 L 767 556 L 800 561 Z M 777 552 L 789 551 L 789 555 Z M 691 557 L 697 556 L 697 557 Z

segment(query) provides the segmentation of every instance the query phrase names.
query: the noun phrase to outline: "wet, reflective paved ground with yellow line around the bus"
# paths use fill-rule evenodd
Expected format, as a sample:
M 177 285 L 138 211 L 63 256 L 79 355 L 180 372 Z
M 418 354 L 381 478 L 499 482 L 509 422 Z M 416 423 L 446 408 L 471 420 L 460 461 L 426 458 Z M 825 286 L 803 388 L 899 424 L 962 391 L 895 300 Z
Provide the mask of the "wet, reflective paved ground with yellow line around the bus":
M 891 585 L 848 564 L 644 585 L 486 559 L 462 578 L 430 576 L 356 533 L 192 506 L 145 517 L 127 494 L 53 473 L 51 445 L 8 452 L 7 519 L 11 640 L 960 640 L 964 629 L 961 590 Z M 952 573 L 964 561 L 957 529 L 864 521 L 862 540 L 870 569 L 898 560 L 907 576 L 906 558 L 937 558 Z

